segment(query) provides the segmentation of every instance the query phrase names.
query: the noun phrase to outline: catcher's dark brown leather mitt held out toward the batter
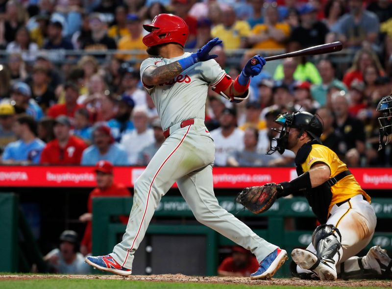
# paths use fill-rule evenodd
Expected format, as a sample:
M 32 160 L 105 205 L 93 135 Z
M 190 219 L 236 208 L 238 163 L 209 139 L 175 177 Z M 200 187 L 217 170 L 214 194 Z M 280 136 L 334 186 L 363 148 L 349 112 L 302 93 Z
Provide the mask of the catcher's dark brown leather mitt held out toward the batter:
M 277 193 L 275 183 L 249 187 L 237 195 L 236 202 L 242 204 L 250 212 L 259 214 L 270 209 L 276 200 Z

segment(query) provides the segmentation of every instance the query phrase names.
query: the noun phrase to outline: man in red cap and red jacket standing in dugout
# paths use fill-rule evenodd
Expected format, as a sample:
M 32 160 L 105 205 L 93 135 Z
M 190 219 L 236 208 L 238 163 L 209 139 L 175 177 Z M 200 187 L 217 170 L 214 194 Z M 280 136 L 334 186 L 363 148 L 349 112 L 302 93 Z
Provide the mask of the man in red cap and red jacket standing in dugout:
M 83 240 L 80 246 L 80 252 L 83 255 L 91 253 L 92 248 L 92 224 L 93 217 L 93 198 L 95 197 L 129 197 L 131 193 L 123 184 L 113 182 L 113 165 L 108 161 L 99 161 L 95 167 L 97 188 L 90 194 L 87 201 L 87 213 L 79 217 L 82 222 L 87 222 L 86 230 L 84 231 Z M 120 220 L 126 224 L 128 217 L 120 216 Z

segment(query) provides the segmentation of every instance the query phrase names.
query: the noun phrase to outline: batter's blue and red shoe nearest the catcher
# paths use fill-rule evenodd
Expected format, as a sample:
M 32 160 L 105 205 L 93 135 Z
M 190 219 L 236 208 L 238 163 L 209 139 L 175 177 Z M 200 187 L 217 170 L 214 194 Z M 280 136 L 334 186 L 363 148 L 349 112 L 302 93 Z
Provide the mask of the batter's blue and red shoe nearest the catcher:
M 287 259 L 287 252 L 277 248 L 261 261 L 259 269 L 250 274 L 250 279 L 270 279 Z

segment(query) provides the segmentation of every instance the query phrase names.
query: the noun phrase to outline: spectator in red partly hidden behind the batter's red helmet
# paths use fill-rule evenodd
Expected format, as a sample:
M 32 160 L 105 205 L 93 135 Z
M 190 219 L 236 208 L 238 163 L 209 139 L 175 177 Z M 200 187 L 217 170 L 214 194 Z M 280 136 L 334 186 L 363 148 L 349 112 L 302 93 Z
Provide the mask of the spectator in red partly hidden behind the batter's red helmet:
M 197 20 L 189 15 L 192 4 L 194 4 L 192 0 L 172 0 L 174 14 L 181 17 L 189 28 L 189 36 L 185 48 L 195 48 L 196 46 Z

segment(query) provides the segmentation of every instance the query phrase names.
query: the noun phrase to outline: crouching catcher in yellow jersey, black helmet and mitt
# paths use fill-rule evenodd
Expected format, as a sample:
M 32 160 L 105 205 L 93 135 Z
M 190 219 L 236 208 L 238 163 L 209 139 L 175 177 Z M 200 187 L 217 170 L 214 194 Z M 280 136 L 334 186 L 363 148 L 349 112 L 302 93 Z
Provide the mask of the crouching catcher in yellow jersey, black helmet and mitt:
M 237 201 L 254 213 L 270 208 L 274 200 L 292 193 L 304 193 L 319 225 L 312 243 L 294 249 L 294 276 L 306 279 L 336 280 L 348 278 L 391 278 L 392 261 L 379 246 L 365 257 L 355 254 L 371 240 L 376 215 L 370 197 L 361 189 L 347 166 L 335 152 L 321 144 L 321 121 L 307 112 L 285 113 L 276 118 L 282 125 L 269 153 L 295 153 L 298 177 L 290 182 L 270 183 L 246 188 Z

